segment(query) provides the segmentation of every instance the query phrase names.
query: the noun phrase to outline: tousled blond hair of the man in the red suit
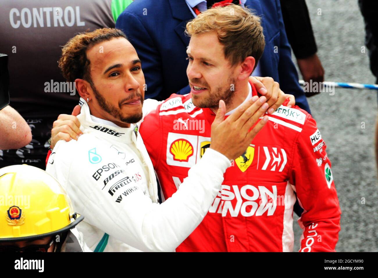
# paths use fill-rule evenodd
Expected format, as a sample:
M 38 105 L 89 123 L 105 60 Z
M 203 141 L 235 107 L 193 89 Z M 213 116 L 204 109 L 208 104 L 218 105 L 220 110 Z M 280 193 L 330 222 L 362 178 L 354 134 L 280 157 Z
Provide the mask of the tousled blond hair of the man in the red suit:
M 260 18 L 239 5 L 218 6 L 201 12 L 186 24 L 188 36 L 216 32 L 231 65 L 243 62 L 248 56 L 259 61 L 265 47 Z

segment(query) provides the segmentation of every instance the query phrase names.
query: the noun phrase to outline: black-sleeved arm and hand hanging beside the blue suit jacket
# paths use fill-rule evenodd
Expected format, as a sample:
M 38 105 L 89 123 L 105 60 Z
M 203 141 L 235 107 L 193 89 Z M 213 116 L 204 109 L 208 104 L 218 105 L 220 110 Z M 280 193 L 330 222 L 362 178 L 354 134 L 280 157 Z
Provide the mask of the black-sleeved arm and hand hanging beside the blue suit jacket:
M 305 82 L 323 82 L 324 68 L 316 54 L 315 37 L 305 0 L 280 0 L 283 22 L 290 46 Z M 306 92 L 310 97 L 319 92 Z

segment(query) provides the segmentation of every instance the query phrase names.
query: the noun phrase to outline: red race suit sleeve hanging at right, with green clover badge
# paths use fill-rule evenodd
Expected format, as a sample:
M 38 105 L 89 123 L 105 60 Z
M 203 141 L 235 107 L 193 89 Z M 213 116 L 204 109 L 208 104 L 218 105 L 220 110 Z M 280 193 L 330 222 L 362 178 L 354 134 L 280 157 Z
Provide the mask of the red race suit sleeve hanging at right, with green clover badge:
M 335 252 L 340 231 L 339 200 L 331 162 L 315 120 L 309 115 L 294 151 L 290 183 L 304 208 L 300 252 Z

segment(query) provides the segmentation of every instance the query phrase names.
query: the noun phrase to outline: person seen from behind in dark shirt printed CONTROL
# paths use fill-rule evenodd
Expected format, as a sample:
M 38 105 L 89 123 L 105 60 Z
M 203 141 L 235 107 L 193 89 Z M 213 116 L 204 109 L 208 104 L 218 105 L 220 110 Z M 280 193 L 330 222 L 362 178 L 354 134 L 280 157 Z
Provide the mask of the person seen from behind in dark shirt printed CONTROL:
M 73 34 L 114 27 L 131 0 L 0 1 L 0 52 L 9 56 L 11 105 L 29 124 L 30 144 L 5 146 L 0 167 L 28 163 L 45 169 L 53 121 L 77 104 L 57 61 Z M 16 148 L 16 149 L 9 149 Z

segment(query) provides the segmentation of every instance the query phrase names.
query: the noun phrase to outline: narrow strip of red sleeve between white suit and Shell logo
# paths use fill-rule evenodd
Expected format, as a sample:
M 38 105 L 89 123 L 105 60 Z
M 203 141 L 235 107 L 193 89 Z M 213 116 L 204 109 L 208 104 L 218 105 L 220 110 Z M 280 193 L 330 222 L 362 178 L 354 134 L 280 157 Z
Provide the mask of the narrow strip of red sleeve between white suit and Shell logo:
M 143 138 L 144 145 L 151 158 L 153 168 L 156 170 L 159 166 L 161 156 L 162 133 L 160 130 L 160 106 L 144 117 L 139 128 L 139 133 Z

